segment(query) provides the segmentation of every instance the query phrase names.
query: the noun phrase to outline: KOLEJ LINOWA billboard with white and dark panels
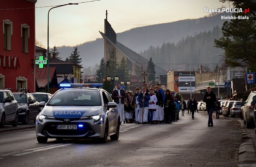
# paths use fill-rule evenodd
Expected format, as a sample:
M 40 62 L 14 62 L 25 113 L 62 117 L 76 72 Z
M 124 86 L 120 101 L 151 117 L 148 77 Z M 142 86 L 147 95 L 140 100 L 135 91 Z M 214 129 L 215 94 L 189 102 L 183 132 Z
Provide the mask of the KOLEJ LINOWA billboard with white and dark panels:
M 178 77 L 179 84 L 177 84 L 179 92 L 190 92 L 190 79 L 191 79 L 191 92 L 195 92 L 196 77 L 195 71 L 175 71 L 174 76 Z

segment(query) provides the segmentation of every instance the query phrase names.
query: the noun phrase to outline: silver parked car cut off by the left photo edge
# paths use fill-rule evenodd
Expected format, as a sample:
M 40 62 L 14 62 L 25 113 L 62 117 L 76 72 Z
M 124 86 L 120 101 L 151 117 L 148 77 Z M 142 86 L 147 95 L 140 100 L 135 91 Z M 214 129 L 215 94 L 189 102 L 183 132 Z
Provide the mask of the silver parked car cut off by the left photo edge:
M 11 122 L 12 126 L 18 125 L 18 102 L 10 90 L 0 89 L 0 128 Z

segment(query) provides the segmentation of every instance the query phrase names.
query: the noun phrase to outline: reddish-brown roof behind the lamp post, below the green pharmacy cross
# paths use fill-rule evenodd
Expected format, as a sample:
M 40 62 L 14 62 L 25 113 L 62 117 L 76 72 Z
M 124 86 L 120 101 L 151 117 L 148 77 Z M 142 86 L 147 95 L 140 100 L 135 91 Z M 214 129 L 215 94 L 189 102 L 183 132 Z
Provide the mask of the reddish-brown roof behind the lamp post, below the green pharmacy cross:
M 49 83 L 52 82 L 55 70 L 56 70 L 55 67 L 49 67 Z M 38 87 L 46 87 L 47 86 L 47 68 L 35 67 L 35 79 Z

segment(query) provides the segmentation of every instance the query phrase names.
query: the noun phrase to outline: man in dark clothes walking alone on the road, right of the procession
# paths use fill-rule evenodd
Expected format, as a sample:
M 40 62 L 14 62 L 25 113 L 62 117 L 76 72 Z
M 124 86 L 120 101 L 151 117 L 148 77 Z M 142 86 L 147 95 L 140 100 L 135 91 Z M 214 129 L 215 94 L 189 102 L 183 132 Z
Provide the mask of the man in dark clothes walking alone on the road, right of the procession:
M 215 102 L 217 101 L 216 95 L 211 91 L 211 87 L 207 87 L 207 92 L 205 93 L 203 97 L 203 102 L 206 103 L 206 110 L 209 115 L 208 118 L 208 127 L 213 126 L 213 121 L 212 121 L 212 113 L 215 108 Z

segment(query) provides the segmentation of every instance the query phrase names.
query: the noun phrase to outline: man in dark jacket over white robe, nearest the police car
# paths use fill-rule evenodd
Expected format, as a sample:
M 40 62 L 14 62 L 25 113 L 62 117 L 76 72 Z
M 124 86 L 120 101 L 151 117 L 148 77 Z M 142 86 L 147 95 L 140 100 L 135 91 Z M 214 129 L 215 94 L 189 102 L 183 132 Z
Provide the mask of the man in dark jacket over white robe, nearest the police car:
M 125 121 L 124 118 L 124 99 L 126 98 L 126 93 L 123 89 L 121 89 L 121 85 L 119 83 L 116 84 L 117 88 L 112 92 L 112 99 L 117 103 L 117 110 L 120 114 L 120 123 Z

